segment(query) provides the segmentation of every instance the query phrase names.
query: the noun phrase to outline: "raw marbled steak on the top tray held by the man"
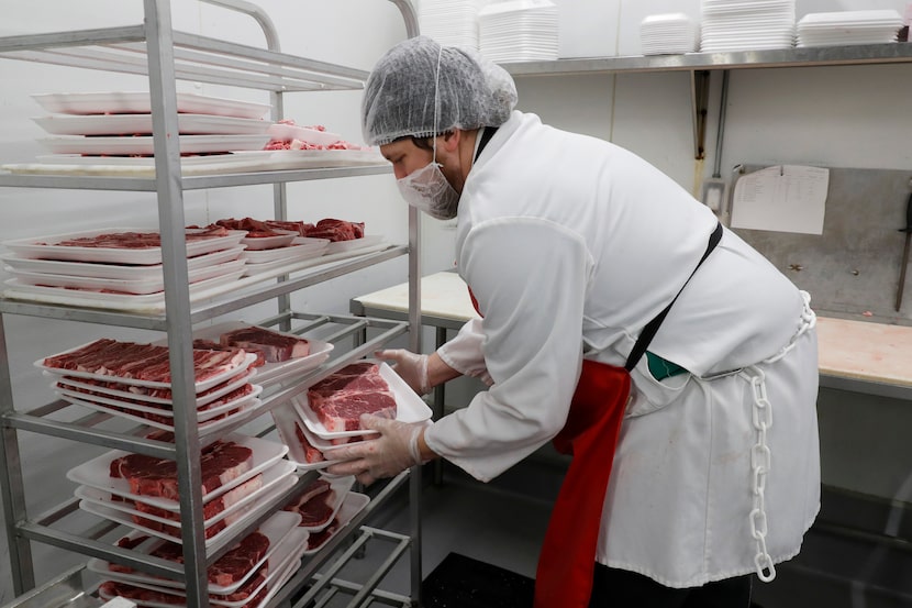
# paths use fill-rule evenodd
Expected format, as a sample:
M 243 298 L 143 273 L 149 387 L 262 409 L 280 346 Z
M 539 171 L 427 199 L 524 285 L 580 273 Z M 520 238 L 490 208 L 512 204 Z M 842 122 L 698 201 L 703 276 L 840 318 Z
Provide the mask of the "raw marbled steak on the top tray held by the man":
M 327 431 L 360 429 L 363 413 L 396 418 L 396 398 L 376 363 L 343 367 L 308 389 L 310 409 Z

